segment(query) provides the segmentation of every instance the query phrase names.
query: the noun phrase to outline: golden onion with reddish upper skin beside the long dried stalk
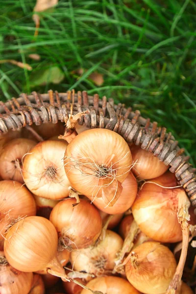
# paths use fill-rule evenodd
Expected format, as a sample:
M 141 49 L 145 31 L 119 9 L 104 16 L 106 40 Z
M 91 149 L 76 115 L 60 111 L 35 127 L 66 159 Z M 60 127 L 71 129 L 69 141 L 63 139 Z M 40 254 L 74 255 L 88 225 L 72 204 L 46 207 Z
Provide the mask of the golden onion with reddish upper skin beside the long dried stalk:
M 164 187 L 177 185 L 175 176 L 166 172 L 153 179 Z M 178 197 L 185 194 L 181 188 L 166 189 L 153 183 L 147 183 L 139 191 L 132 205 L 132 213 L 139 228 L 149 238 L 164 243 L 182 240 L 181 225 L 177 219 Z

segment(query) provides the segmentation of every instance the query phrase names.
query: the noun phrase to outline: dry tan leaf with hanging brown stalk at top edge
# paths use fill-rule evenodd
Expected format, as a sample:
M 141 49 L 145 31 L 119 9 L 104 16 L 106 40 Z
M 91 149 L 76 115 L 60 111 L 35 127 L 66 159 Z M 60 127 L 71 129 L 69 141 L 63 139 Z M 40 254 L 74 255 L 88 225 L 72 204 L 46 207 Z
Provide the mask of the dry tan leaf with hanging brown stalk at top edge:
M 36 14 L 36 12 L 43 12 L 48 10 L 49 8 L 52 8 L 58 3 L 58 0 L 37 0 L 35 7 L 33 11 L 35 12 L 33 14 L 33 21 L 35 22 L 35 33 L 34 36 L 38 35 L 38 28 L 40 27 L 40 16 Z

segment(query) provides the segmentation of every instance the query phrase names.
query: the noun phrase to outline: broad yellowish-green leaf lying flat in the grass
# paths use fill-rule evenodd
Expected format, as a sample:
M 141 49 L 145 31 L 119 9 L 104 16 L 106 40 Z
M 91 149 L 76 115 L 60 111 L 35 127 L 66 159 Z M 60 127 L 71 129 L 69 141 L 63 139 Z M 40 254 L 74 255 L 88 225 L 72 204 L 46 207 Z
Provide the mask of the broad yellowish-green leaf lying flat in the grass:
M 40 86 L 49 83 L 59 84 L 64 79 L 64 73 L 57 66 L 35 71 L 30 76 L 30 86 Z

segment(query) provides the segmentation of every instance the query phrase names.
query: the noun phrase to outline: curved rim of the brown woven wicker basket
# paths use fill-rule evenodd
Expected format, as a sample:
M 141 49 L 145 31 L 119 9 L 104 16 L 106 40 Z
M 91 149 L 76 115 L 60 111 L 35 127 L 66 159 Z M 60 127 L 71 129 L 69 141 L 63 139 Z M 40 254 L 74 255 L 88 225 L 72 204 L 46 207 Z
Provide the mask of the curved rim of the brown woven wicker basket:
M 32 92 L 29 96 L 21 94 L 6 103 L 0 102 L 0 135 L 32 123 L 67 123 L 69 114 L 83 111 L 88 113 L 80 118 L 80 125 L 113 130 L 127 143 L 141 144 L 165 165 L 170 165 L 170 171 L 175 173 L 196 207 L 195 169 L 188 163 L 189 157 L 183 155 L 184 150 L 178 147 L 172 134 L 167 133 L 165 127 L 158 127 L 156 122 L 150 123 L 149 119 L 142 118 L 139 110 L 132 112 L 123 104 L 114 105 L 113 99 L 107 101 L 105 96 L 99 99 L 98 94 L 88 96 L 86 91 L 75 93 L 74 90 L 67 93 L 50 90 L 47 94 Z

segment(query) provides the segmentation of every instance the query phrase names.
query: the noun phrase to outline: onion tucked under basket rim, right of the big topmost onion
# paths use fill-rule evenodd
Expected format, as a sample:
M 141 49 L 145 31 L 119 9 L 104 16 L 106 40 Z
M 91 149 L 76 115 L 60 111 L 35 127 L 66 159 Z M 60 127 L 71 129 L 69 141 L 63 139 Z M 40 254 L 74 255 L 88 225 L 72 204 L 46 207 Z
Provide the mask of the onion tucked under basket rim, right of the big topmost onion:
M 132 169 L 133 173 L 139 179 L 152 179 L 166 172 L 169 166 L 166 166 L 158 157 L 142 149 L 140 146 L 131 145 L 130 147 L 133 162 L 137 165 Z

